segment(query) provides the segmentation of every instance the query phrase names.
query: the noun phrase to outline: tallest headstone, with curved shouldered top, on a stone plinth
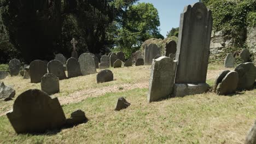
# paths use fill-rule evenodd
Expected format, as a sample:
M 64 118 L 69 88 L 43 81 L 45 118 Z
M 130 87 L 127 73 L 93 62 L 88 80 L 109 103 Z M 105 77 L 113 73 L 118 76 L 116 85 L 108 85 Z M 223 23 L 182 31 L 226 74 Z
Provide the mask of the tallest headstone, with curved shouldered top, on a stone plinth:
M 211 10 L 200 2 L 188 5 L 181 14 L 174 86 L 174 95 L 177 97 L 208 91 L 206 74 L 212 21 Z

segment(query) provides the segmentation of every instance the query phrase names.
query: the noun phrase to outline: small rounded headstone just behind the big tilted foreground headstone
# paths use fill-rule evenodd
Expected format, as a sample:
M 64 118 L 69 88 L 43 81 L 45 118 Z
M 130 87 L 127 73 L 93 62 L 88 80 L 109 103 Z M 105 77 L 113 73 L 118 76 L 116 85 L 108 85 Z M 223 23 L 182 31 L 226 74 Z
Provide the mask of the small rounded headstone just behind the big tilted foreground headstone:
M 54 74 L 47 73 L 42 77 L 41 90 L 51 95 L 60 92 L 59 77 Z

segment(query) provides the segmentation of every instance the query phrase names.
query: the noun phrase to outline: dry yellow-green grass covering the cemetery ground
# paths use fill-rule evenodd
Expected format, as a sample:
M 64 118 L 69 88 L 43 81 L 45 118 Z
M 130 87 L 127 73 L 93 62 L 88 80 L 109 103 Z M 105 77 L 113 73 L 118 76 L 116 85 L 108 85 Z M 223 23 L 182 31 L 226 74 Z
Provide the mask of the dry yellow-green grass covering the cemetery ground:
M 207 83 L 211 87 L 226 69 L 222 65 L 208 66 Z M 54 96 L 66 117 L 81 109 L 89 119 L 73 128 L 17 135 L 5 116 L 14 100 L 0 101 L 0 143 L 244 143 L 256 119 L 256 89 L 228 96 L 208 92 L 148 103 L 150 66 L 111 70 L 112 82 L 96 83 L 96 74 L 60 81 L 60 93 Z M 27 89 L 40 89 L 40 83 L 20 76 L 2 81 L 14 87 L 15 98 Z M 131 106 L 114 111 L 119 97 Z

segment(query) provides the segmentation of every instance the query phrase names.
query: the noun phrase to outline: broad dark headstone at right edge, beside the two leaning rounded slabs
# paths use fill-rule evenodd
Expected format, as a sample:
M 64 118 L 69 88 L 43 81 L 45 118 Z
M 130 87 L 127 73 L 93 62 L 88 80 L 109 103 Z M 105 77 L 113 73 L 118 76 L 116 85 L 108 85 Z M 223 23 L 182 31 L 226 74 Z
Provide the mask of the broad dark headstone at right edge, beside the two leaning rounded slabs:
M 256 79 L 256 68 L 253 63 L 241 63 L 237 65 L 235 71 L 239 75 L 237 89 L 240 91 L 252 89 Z

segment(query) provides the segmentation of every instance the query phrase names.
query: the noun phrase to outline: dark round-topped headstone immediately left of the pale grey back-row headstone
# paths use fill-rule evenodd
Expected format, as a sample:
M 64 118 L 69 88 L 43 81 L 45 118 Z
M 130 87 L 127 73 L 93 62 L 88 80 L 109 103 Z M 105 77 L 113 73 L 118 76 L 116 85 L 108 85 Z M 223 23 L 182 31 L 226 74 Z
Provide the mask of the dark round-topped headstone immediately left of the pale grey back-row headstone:
M 73 57 L 68 58 L 66 65 L 67 65 L 68 78 L 77 77 L 77 76 L 82 75 L 80 65 L 79 65 L 79 62 L 77 61 L 77 59 L 75 59 Z

